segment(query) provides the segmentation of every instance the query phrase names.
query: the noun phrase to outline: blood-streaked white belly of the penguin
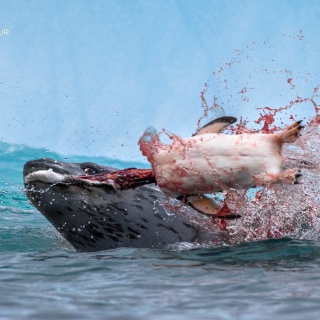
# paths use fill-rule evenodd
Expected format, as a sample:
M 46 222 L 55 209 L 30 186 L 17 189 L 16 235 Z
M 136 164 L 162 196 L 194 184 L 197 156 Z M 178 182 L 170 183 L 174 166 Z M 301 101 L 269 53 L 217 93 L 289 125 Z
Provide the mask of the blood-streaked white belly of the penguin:
M 207 133 L 159 150 L 152 168 L 159 187 L 176 197 L 272 182 L 281 163 L 274 134 Z

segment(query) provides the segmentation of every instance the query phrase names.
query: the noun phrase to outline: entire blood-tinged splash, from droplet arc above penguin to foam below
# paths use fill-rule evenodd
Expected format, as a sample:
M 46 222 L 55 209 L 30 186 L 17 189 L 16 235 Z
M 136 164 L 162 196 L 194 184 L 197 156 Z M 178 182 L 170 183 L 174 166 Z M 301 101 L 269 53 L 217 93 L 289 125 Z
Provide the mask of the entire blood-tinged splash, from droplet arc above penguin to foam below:
M 298 51 L 305 54 L 310 45 L 305 42 L 302 31 L 282 36 L 288 47 L 294 47 L 285 60 L 278 59 L 276 54 L 284 47 L 283 41 L 253 42 L 246 50 L 235 50 L 233 57 L 222 62 L 212 73 L 213 80 L 207 81 L 200 92 L 203 114 L 197 121 L 197 129 L 204 121 L 224 115 L 225 111 L 226 115 L 241 115 L 239 121 L 226 130 L 227 134 L 276 133 L 300 119 L 306 124 L 297 141 L 284 145 L 281 152 L 285 168 L 301 168 L 300 184 L 279 183 L 247 192 L 233 191 L 227 203 L 242 215 L 240 219 L 197 221 L 211 223 L 226 232 L 228 241 L 233 244 L 267 238 L 320 238 L 320 84 L 316 82 L 318 75 L 313 69 L 303 70 L 296 65 L 292 70 L 294 54 Z M 269 58 L 259 61 L 260 50 L 267 51 Z M 273 90 L 278 87 L 281 90 Z M 210 88 L 213 93 L 209 92 Z M 213 96 L 211 103 L 208 96 Z M 263 96 L 269 104 L 264 102 Z M 181 143 L 179 137 L 171 134 L 170 138 Z M 165 148 L 159 141 L 153 145 Z M 176 202 L 168 201 L 165 205 L 168 210 L 174 208 L 177 213 L 184 214 L 184 207 Z

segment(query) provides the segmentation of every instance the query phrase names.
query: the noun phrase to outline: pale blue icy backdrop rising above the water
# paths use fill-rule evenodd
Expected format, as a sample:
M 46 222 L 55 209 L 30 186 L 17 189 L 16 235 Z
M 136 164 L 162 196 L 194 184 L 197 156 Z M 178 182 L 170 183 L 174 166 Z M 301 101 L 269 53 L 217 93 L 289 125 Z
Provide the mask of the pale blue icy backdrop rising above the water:
M 145 161 L 148 125 L 194 132 L 205 83 L 209 117 L 254 127 L 320 83 L 319 18 L 311 0 L 1 0 L 0 141 Z M 278 124 L 291 113 L 315 114 Z

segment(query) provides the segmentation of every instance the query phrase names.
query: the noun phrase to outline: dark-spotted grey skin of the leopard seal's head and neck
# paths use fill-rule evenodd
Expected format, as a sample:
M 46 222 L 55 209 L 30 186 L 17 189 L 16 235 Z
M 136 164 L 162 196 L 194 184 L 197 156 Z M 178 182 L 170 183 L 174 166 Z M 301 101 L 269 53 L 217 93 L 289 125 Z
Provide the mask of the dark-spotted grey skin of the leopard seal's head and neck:
M 49 168 L 74 176 L 115 170 L 91 162 L 41 158 L 24 164 L 23 177 Z M 154 185 L 114 191 L 107 187 L 32 181 L 25 188 L 30 202 L 78 251 L 117 247 L 162 249 L 180 241 L 201 242 L 207 231 L 183 214 L 168 215 L 159 204 L 165 196 Z

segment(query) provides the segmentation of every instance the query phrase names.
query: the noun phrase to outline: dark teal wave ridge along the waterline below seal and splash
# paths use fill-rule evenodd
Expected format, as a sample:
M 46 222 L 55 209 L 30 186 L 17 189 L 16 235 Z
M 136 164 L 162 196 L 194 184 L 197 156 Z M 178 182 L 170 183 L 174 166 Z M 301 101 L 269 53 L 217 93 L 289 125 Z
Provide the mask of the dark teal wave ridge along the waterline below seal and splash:
M 108 260 L 120 263 L 126 260 L 139 259 L 141 262 L 157 260 L 158 265 L 170 267 L 192 266 L 196 262 L 206 265 L 251 266 L 285 268 L 308 265 L 309 261 L 320 260 L 320 243 L 312 240 L 292 238 L 266 239 L 256 242 L 240 243 L 216 248 L 197 248 L 182 251 L 158 249 L 116 248 L 95 253 L 75 253 L 72 251 L 38 252 L 28 255 L 32 259 L 63 259 L 63 265 L 73 263 L 74 258 L 84 266 L 91 267 L 91 260 Z M 80 262 L 81 261 L 81 262 Z M 104 264 L 104 263 L 102 263 Z

